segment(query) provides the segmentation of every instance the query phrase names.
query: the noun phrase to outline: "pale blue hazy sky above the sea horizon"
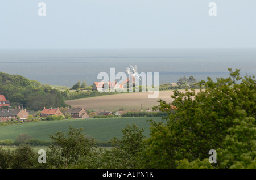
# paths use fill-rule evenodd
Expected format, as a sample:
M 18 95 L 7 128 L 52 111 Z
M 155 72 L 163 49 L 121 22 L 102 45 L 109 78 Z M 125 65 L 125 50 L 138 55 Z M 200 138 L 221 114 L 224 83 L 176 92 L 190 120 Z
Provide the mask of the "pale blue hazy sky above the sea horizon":
M 0 1 L 0 48 L 256 47 L 255 33 L 254 0 Z

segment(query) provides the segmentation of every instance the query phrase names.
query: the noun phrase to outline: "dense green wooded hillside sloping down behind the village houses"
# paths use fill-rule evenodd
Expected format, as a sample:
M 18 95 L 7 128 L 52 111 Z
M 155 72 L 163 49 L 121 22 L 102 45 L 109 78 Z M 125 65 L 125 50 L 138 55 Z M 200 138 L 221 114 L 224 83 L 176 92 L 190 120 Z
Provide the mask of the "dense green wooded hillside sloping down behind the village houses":
M 11 106 L 22 106 L 28 110 L 42 110 L 68 106 L 58 89 L 42 85 L 36 80 L 29 80 L 21 75 L 9 75 L 0 72 L 0 95 L 5 95 Z

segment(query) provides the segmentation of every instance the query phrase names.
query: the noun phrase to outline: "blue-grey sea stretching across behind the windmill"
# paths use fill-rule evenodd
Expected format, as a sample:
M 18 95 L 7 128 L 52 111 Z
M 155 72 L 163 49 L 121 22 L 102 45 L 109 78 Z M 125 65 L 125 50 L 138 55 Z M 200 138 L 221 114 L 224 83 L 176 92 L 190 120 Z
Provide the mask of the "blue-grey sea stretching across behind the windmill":
M 176 83 L 181 76 L 214 80 L 229 75 L 256 75 L 256 49 L 8 49 L 0 50 L 0 71 L 20 74 L 43 84 L 72 87 L 77 80 L 92 85 L 100 72 L 159 72 L 160 83 Z

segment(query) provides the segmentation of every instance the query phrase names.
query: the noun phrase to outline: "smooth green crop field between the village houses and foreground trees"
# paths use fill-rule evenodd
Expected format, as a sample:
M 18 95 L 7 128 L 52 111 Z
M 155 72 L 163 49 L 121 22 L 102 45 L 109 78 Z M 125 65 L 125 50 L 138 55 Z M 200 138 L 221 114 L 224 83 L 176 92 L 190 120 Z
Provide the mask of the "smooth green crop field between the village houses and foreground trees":
M 29 122 L 10 126 L 0 126 L 0 140 L 15 140 L 19 134 L 26 133 L 32 139 L 51 140 L 50 134 L 55 132 L 67 132 L 69 125 L 75 128 L 83 128 L 86 135 L 93 136 L 96 140 L 106 142 L 113 137 L 122 138 L 122 128 L 127 124 L 135 123 L 144 128 L 144 134 L 149 136 L 150 122 L 147 119 L 160 121 L 160 117 L 134 117 L 134 118 L 96 118 L 96 119 L 70 119 L 60 121 Z

